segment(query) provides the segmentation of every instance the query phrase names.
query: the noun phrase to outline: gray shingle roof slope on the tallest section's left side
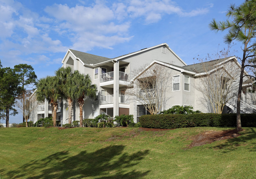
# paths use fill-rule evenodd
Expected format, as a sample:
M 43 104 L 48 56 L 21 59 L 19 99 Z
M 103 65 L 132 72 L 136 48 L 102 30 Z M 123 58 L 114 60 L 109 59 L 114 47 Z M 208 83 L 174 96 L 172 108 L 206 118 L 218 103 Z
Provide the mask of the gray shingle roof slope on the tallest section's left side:
M 107 57 L 100 57 L 97 55 L 93 55 L 93 54 L 87 54 L 85 52 L 80 52 L 77 50 L 72 50 L 69 49 L 77 58 L 80 58 L 82 60 L 83 63 L 85 64 L 96 64 L 96 63 L 101 63 L 104 61 L 109 60 L 109 58 Z

